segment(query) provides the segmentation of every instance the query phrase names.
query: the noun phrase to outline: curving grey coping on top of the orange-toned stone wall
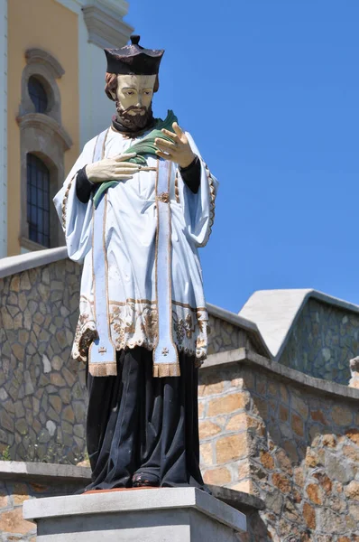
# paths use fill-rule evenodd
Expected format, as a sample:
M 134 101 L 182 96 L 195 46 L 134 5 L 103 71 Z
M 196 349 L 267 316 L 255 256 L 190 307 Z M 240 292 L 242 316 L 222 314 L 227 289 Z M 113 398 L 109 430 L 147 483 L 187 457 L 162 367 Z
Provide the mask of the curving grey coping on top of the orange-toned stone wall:
M 350 388 L 349 386 L 337 384 L 336 382 L 331 382 L 329 380 L 323 380 L 322 378 L 310 377 L 299 370 L 290 369 L 285 365 L 281 365 L 281 363 L 278 363 L 277 361 L 264 358 L 263 356 L 260 356 L 259 354 L 256 354 L 252 350 L 248 350 L 246 348 L 237 348 L 235 350 L 226 350 L 224 352 L 211 354 L 202 365 L 201 370 L 233 363 L 254 364 L 264 370 L 276 373 L 286 380 L 300 384 L 300 386 L 311 388 L 312 392 L 320 391 L 327 395 L 334 395 L 337 397 L 342 397 L 343 399 L 354 399 L 359 401 L 359 389 Z

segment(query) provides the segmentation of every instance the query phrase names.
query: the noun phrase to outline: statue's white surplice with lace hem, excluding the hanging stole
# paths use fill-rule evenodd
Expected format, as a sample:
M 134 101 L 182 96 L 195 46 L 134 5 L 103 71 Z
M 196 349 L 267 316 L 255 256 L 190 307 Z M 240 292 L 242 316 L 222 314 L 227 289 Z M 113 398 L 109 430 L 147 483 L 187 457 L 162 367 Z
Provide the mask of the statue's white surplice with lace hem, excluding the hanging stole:
M 195 194 L 182 181 L 177 165 L 172 164 L 172 338 L 179 350 L 195 356 L 200 362 L 207 356 L 208 314 L 198 248 L 207 244 L 213 225 L 217 181 L 203 162 L 192 137 L 188 133 L 187 136 L 193 152 L 200 158 L 201 178 L 198 193 Z M 106 134 L 103 157 L 125 153 L 142 137 L 129 139 L 110 127 Z M 92 266 L 93 196 L 88 203 L 78 201 L 76 175 L 79 169 L 92 163 L 96 142 L 97 137 L 85 145 L 54 198 L 65 232 L 69 257 L 83 263 L 80 314 L 72 348 L 72 357 L 83 361 L 87 360 L 88 346 L 96 337 Z M 158 159 L 153 156 L 146 158 L 148 166 L 154 170 Z M 155 181 L 155 171 L 140 171 L 132 179 L 118 182 L 107 191 L 107 293 L 111 337 L 116 350 L 135 346 L 152 350 L 158 334 Z

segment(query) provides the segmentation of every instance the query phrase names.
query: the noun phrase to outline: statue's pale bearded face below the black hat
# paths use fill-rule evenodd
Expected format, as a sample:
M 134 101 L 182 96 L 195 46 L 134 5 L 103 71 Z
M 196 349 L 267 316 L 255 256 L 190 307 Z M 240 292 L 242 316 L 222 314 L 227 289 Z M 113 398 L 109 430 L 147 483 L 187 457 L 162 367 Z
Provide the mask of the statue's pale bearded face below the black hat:
M 156 75 L 118 75 L 115 104 L 117 118 L 130 130 L 141 130 L 152 120 Z

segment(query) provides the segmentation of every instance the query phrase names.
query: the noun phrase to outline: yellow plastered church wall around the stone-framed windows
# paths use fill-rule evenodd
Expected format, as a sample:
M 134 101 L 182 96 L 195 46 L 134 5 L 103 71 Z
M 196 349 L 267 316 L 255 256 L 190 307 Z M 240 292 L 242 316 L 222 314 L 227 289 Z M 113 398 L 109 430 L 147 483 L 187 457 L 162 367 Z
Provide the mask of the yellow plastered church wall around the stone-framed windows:
M 56 0 L 11 0 L 8 3 L 8 256 L 20 253 L 20 129 L 21 79 L 30 47 L 48 51 L 65 70 L 57 79 L 62 126 L 73 146 L 65 153 L 65 173 L 78 157 L 78 15 Z

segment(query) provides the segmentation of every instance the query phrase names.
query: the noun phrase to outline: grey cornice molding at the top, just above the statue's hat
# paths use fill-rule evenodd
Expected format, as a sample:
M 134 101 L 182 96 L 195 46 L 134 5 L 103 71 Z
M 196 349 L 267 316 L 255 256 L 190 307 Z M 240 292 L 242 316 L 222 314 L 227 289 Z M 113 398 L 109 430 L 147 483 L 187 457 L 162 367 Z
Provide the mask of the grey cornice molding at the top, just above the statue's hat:
M 102 49 L 123 47 L 133 33 L 133 27 L 124 23 L 123 16 L 104 4 L 96 2 L 85 5 L 82 12 L 87 25 L 88 42 Z

